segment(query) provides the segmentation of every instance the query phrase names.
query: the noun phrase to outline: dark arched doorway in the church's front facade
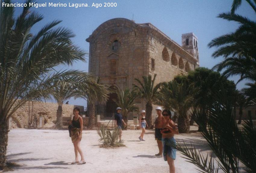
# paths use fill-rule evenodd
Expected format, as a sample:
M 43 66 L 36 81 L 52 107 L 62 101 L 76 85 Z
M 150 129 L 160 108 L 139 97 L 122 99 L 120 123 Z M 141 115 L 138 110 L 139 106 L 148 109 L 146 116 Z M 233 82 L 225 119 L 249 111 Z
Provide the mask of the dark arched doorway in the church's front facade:
M 116 90 L 115 86 L 110 86 L 110 89 Z M 113 113 L 115 114 L 117 105 L 114 102 L 114 99 L 117 99 L 117 94 L 116 93 L 111 93 L 109 94 L 109 99 L 106 102 L 106 107 L 105 107 L 105 116 L 107 117 L 112 117 Z

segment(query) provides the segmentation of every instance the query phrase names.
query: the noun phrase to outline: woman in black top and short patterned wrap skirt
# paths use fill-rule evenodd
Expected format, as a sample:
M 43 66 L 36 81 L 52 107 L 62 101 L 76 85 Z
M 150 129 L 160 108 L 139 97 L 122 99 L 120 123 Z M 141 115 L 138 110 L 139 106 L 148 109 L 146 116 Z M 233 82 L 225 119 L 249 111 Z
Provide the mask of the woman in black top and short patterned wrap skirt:
M 72 120 L 72 130 L 71 130 L 71 140 L 72 143 L 74 144 L 74 150 L 75 150 L 75 161 L 72 162 L 71 164 L 84 164 L 86 163 L 84 161 L 84 154 L 80 148 L 80 141 L 82 139 L 82 131 L 83 131 L 83 118 L 79 115 L 80 114 L 80 109 L 78 107 L 75 107 L 73 110 L 74 117 Z M 78 161 L 78 153 L 81 156 L 80 162 Z

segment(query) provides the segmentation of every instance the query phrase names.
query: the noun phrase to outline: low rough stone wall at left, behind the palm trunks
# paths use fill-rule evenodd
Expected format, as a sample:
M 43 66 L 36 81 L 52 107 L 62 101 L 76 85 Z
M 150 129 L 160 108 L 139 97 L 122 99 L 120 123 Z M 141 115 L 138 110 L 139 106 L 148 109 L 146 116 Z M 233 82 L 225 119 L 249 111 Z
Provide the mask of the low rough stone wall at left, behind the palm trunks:
M 45 127 L 52 127 L 56 121 L 58 104 L 50 102 L 27 102 L 11 117 L 11 127 L 38 127 L 39 116 L 43 117 Z M 71 117 L 74 105 L 63 104 L 63 117 Z

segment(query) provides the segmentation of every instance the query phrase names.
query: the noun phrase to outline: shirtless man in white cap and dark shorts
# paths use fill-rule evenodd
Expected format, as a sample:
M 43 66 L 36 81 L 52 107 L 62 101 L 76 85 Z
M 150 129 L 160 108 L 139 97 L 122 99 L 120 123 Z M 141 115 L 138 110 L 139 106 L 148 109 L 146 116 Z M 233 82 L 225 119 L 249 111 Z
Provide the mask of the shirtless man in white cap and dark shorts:
M 164 118 L 162 115 L 162 108 L 161 107 L 157 107 L 156 108 L 156 113 L 157 113 L 157 118 L 155 121 L 155 139 L 157 142 L 157 146 L 159 149 L 159 153 L 155 154 L 158 157 L 162 157 L 163 155 L 163 146 L 162 146 L 162 134 L 161 134 L 161 130 L 164 127 Z

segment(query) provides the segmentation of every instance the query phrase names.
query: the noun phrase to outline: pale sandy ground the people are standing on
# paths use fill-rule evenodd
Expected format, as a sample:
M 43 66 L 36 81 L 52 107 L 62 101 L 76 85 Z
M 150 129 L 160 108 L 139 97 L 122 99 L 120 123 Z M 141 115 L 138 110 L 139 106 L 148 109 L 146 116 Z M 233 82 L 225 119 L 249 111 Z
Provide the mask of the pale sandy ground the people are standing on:
M 191 126 L 192 133 L 175 136 L 194 144 L 204 154 L 211 153 L 207 142 Z M 12 172 L 169 172 L 169 166 L 158 153 L 154 131 L 146 130 L 144 139 L 138 139 L 141 130 L 123 131 L 125 147 L 115 149 L 100 148 L 96 131 L 83 131 L 81 147 L 85 155 L 85 165 L 71 165 L 74 160 L 74 147 L 67 130 L 12 129 L 9 132 L 8 162 L 15 162 Z M 186 162 L 177 152 L 175 168 L 177 173 L 198 172 L 193 164 Z

